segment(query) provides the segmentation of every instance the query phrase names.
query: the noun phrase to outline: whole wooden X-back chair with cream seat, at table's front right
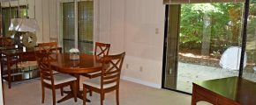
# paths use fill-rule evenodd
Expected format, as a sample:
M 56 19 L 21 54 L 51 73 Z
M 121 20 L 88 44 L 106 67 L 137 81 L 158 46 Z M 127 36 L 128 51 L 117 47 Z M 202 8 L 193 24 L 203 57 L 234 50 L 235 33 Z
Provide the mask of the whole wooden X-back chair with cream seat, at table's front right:
M 101 95 L 103 105 L 105 93 L 116 90 L 117 105 L 119 105 L 119 81 L 125 52 L 117 55 L 105 55 L 102 58 L 102 75 L 83 82 L 83 104 L 86 105 L 87 90 Z

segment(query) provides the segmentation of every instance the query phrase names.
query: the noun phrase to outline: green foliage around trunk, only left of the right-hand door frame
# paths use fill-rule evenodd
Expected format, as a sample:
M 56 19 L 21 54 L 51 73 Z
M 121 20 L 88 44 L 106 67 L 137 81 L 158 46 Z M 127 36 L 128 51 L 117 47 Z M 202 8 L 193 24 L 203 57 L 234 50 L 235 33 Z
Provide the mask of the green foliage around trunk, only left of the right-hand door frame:
M 210 30 L 210 52 L 238 45 L 242 31 L 244 4 L 183 4 L 180 48 L 200 49 L 204 26 Z M 205 21 L 204 19 L 208 19 Z

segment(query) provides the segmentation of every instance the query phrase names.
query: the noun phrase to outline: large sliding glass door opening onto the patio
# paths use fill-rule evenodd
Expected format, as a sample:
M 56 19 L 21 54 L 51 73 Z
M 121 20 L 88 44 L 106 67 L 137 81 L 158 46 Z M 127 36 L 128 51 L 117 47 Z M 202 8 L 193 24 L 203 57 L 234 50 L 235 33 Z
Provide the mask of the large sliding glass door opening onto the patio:
M 192 81 L 238 75 L 244 3 L 171 4 L 168 11 L 163 88 L 192 93 Z

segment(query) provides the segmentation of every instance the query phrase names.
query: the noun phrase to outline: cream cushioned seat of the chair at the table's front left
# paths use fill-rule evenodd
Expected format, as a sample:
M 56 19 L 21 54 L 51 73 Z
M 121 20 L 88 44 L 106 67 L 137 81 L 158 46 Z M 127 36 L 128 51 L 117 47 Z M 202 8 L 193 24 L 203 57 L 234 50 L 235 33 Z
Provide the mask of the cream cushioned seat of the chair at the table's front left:
M 54 85 L 62 84 L 64 82 L 76 81 L 77 78 L 66 73 L 55 73 L 54 74 Z M 45 83 L 51 84 L 49 80 L 44 80 Z

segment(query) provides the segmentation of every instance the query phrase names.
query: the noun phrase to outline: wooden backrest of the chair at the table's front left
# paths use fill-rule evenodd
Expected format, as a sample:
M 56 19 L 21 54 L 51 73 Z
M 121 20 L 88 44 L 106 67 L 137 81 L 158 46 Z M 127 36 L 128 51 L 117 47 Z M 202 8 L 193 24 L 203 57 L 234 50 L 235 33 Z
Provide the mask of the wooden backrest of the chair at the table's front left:
M 40 70 L 41 82 L 47 80 L 51 81 L 51 84 L 54 84 L 53 71 L 50 67 L 50 62 L 52 61 L 52 58 L 50 57 L 51 53 L 42 52 L 40 50 L 37 50 L 34 53 Z

